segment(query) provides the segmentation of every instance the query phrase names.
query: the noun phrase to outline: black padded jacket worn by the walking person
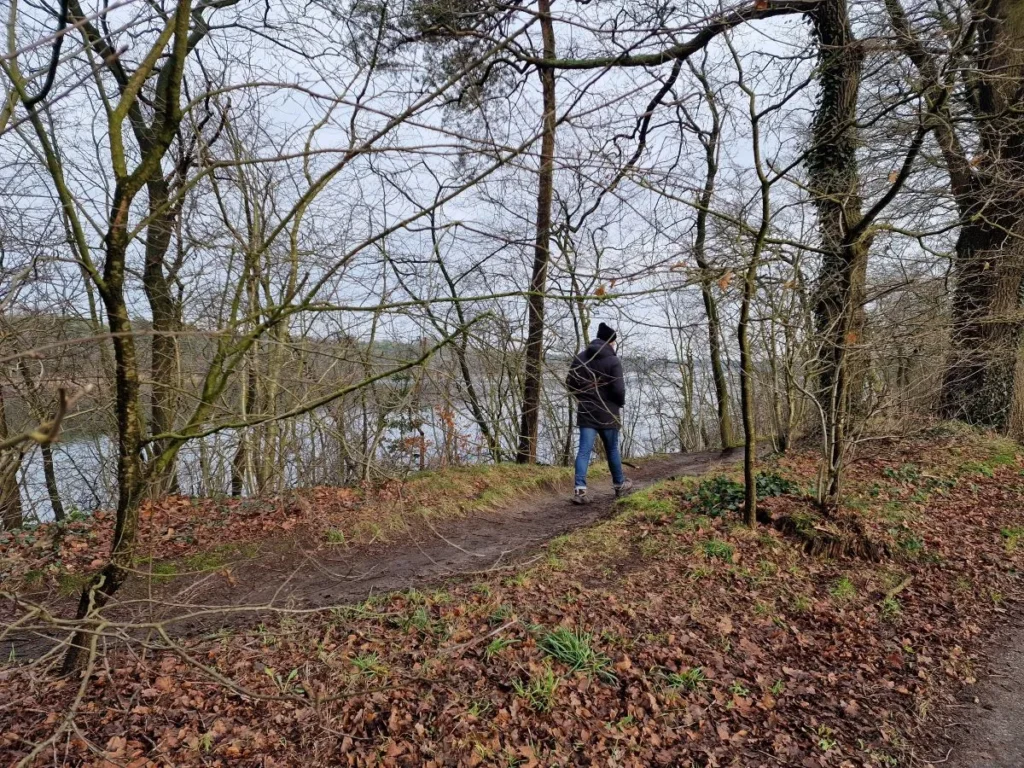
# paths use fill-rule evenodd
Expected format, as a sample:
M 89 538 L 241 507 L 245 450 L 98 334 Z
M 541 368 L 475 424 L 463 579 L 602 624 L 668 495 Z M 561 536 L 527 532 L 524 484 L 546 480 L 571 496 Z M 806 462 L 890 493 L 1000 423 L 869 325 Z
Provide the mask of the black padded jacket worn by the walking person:
M 623 366 L 611 345 L 594 339 L 572 358 L 565 386 L 577 398 L 581 427 L 617 429 L 620 410 L 626 404 Z

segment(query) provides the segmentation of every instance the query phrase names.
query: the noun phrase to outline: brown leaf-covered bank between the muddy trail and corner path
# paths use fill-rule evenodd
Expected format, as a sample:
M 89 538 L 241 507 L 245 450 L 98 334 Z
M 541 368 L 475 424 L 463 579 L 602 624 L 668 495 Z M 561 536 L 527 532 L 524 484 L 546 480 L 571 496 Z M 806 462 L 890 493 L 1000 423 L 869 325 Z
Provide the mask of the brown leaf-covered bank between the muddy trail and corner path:
M 802 490 L 768 512 L 810 514 L 814 457 L 773 469 Z M 974 433 L 872 443 L 844 514 L 881 562 L 701 515 L 668 481 L 528 570 L 119 651 L 81 700 L 9 665 L 0 755 L 60 731 L 38 765 L 927 765 L 1020 591 L 1021 471 Z

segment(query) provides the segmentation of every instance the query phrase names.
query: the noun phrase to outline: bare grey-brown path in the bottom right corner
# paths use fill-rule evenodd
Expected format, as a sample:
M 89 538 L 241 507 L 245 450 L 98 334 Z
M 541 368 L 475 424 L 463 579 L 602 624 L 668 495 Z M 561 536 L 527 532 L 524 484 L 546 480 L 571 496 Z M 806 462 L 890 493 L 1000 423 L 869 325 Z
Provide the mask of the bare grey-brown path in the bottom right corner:
M 988 654 L 985 677 L 963 696 L 943 768 L 1024 766 L 1024 621 Z M 950 749 L 950 748 L 947 748 Z M 935 765 L 944 756 L 938 755 Z

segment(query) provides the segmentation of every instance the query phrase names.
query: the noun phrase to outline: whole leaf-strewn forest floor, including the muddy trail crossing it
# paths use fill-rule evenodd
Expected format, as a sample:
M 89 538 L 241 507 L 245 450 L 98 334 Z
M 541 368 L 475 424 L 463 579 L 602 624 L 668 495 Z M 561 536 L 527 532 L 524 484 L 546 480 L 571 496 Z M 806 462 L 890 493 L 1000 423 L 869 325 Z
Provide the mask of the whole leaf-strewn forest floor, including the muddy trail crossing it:
M 845 768 L 951 765 L 988 749 L 1001 760 L 998 723 L 964 705 L 1013 703 L 989 698 L 1006 679 L 978 681 L 998 666 L 983 659 L 1012 659 L 992 638 L 1019 626 L 1016 446 L 954 426 L 866 442 L 833 519 L 807 496 L 813 455 L 767 460 L 767 524 L 753 530 L 736 512 L 736 464 L 655 459 L 637 475 L 672 479 L 584 508 L 552 468 L 449 470 L 265 508 L 220 502 L 224 513 L 157 507 L 147 573 L 94 628 L 111 650 L 78 680 L 54 676 L 46 654 L 0 667 L 0 759 Z M 34 555 L 54 551 L 46 530 L 0 542 L 4 591 L 36 590 L 20 610 L 67 601 L 61 585 L 91 563 L 72 545 L 100 543 L 102 518 L 65 528 L 59 563 Z M 130 612 L 143 604 L 146 634 Z M 963 741 L 964 723 L 979 741 Z M 1004 765 L 1019 763 L 991 763 Z

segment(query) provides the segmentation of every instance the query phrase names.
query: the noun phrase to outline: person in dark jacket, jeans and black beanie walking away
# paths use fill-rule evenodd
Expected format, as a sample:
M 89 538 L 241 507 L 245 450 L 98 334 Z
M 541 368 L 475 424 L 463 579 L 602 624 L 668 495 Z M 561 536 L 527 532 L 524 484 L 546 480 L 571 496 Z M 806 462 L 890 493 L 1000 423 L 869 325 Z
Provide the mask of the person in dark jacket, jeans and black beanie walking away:
M 587 504 L 587 469 L 594 443 L 601 438 L 611 470 L 615 496 L 630 492 L 633 482 L 623 474 L 623 460 L 618 455 L 621 413 L 626 404 L 626 381 L 623 365 L 615 354 L 615 332 L 603 323 L 597 328 L 594 339 L 580 354 L 572 358 L 565 386 L 577 400 L 577 424 L 580 427 L 580 450 L 575 461 L 574 504 Z

